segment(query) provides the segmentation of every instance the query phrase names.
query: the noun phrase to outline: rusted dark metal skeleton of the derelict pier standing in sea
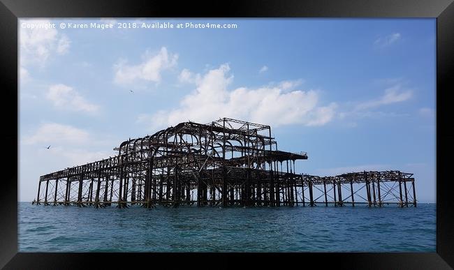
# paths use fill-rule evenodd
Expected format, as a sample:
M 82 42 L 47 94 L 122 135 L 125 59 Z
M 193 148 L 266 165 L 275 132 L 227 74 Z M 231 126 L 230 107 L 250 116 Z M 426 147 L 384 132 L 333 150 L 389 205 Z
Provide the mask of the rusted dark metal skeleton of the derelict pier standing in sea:
M 295 172 L 307 153 L 279 151 L 271 127 L 192 121 L 122 142 L 117 156 L 40 177 L 34 203 L 119 208 L 197 206 L 416 207 L 413 174 Z

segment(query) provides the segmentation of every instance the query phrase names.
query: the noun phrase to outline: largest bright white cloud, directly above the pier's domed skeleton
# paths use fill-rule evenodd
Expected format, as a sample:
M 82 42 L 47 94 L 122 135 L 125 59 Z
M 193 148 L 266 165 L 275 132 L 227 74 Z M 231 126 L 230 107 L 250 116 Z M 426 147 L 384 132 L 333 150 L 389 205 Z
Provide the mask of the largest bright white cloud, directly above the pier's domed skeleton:
M 196 89 L 180 100 L 180 107 L 151 116 L 153 128 L 172 126 L 189 119 L 207 123 L 220 117 L 272 126 L 321 126 L 331 121 L 335 114 L 337 105 L 319 105 L 319 92 L 314 90 L 285 92 L 282 85 L 277 85 L 258 89 L 240 87 L 229 91 L 228 85 L 233 80 L 229 71 L 228 64 L 209 70 L 200 77 Z M 149 118 L 142 114 L 138 121 L 147 119 Z

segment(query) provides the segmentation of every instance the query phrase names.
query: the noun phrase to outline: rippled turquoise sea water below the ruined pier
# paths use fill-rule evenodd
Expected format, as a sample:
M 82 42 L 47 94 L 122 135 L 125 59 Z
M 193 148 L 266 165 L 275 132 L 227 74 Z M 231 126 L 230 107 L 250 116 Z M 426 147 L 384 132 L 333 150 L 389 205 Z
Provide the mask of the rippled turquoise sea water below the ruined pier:
M 435 252 L 418 207 L 64 207 L 19 202 L 20 252 Z

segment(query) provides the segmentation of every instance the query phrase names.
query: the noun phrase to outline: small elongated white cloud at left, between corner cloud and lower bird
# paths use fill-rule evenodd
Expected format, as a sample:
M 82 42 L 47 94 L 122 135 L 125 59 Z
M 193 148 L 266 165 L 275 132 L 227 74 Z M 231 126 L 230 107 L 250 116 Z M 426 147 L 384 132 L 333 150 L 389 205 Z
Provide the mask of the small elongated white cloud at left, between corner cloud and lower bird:
M 46 98 L 51 100 L 55 107 L 65 110 L 94 113 L 98 111 L 98 105 L 89 103 L 80 96 L 78 91 L 65 84 L 54 84 L 49 87 Z

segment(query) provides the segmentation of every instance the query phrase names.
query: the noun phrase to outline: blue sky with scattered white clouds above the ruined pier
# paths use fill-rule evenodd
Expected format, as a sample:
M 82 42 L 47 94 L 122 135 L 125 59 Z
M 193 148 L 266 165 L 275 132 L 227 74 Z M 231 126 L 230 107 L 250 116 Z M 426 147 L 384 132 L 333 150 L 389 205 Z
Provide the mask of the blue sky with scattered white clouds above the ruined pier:
M 68 28 L 91 22 L 113 28 Z M 237 27 L 140 28 L 154 22 Z M 297 172 L 412 172 L 418 200 L 435 202 L 434 19 L 20 20 L 18 31 L 20 201 L 42 174 L 113 156 L 129 137 L 231 117 L 307 151 Z

